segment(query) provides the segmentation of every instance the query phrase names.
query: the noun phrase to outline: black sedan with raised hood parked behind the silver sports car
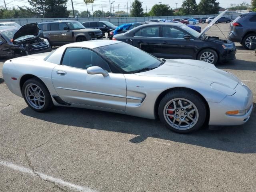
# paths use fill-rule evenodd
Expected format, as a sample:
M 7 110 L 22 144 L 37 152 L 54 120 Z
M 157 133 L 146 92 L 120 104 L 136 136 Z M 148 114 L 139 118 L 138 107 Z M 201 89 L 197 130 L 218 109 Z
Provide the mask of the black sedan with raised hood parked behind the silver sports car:
M 132 44 L 158 58 L 197 59 L 212 64 L 235 59 L 233 42 L 205 35 L 213 24 L 198 33 L 184 24 L 150 23 L 114 35 L 113 40 Z

